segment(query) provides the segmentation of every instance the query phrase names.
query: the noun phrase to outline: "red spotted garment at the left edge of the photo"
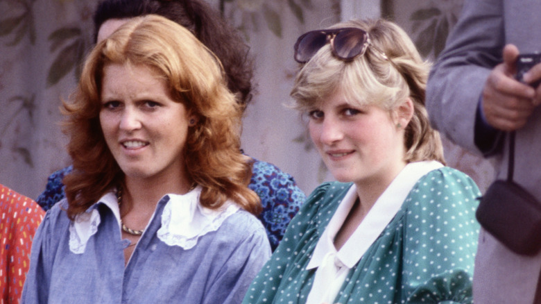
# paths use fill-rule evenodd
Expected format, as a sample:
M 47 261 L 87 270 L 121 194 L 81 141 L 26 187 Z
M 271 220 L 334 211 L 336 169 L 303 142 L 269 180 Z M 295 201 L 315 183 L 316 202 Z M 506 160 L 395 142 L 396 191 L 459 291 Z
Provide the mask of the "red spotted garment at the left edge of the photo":
M 0 304 L 19 303 L 32 239 L 43 216 L 35 201 L 0 185 Z

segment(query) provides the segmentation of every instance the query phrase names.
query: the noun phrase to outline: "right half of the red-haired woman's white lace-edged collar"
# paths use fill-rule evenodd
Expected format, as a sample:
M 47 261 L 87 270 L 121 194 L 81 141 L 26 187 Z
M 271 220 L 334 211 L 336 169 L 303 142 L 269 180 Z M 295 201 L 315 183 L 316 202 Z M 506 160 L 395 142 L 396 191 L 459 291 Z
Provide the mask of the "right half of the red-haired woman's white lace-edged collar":
M 199 204 L 200 192 L 198 187 L 189 193 L 196 195 L 169 195 L 162 212 L 162 227 L 157 231 L 162 242 L 186 250 L 193 248 L 199 237 L 218 230 L 227 217 L 239 210 L 239 206 L 230 201 L 218 210 L 204 208 Z

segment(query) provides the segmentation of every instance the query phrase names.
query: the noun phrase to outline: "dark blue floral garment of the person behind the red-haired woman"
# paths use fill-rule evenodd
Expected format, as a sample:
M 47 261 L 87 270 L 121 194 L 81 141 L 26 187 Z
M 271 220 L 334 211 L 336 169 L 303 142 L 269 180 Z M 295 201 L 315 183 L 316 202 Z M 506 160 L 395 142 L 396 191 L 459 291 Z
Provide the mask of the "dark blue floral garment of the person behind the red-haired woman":
M 306 195 L 295 183 L 293 177 L 273 164 L 252 158 L 252 178 L 248 187 L 261 199 L 263 211 L 259 220 L 266 229 L 271 249 L 280 244 L 289 221 L 299 211 L 306 200 Z M 64 199 L 62 178 L 69 174 L 73 167 L 65 167 L 55 171 L 47 179 L 45 191 L 37 197 L 37 203 L 44 210 L 49 210 L 55 203 Z

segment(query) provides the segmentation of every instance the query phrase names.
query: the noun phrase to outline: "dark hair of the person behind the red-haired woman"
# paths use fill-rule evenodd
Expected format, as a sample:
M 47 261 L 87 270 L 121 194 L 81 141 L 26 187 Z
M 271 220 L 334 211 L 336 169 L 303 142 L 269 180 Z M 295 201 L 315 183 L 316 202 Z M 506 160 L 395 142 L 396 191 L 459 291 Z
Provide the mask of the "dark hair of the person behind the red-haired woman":
M 252 99 L 253 60 L 249 47 L 220 12 L 203 0 L 103 0 L 94 12 L 94 41 L 108 19 L 156 14 L 193 33 L 223 65 L 227 87 L 237 95 L 243 110 Z

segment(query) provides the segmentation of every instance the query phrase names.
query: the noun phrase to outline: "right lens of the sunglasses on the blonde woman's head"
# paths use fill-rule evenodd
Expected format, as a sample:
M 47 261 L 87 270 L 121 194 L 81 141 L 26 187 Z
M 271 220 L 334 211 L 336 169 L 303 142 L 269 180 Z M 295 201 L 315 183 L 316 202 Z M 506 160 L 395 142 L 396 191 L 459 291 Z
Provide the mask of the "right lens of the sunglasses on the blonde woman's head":
M 357 28 L 340 31 L 334 37 L 334 52 L 338 58 L 351 60 L 361 55 L 366 47 L 366 32 Z

